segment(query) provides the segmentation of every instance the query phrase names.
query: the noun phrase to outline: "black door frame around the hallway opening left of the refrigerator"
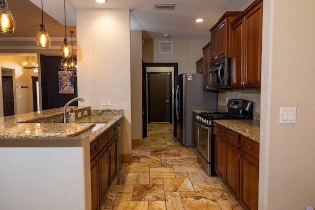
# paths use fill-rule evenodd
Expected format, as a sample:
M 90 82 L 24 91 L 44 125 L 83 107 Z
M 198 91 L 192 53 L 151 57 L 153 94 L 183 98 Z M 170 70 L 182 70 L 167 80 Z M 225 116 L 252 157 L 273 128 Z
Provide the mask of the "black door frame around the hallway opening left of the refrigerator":
M 159 70 L 156 70 L 155 67 L 157 67 Z M 165 68 L 164 68 L 165 67 Z M 153 68 L 153 69 L 152 69 Z M 164 70 L 163 70 L 164 68 Z M 170 123 L 173 119 L 176 119 L 175 114 L 175 106 L 174 106 L 174 90 L 177 86 L 177 75 L 178 75 L 178 63 L 142 63 L 142 137 L 147 137 L 147 123 L 149 122 L 148 117 L 148 84 L 147 84 L 147 73 L 148 72 L 165 72 L 168 70 L 165 70 L 166 68 L 172 69 L 172 81 L 171 81 L 171 97 L 172 102 L 170 103 Z M 162 70 L 161 70 L 162 69 Z M 166 100 L 165 100 L 166 101 Z M 164 101 L 164 103 L 165 103 Z M 176 114 L 175 114 L 176 115 Z M 177 124 L 177 120 L 174 120 L 173 123 Z M 177 126 L 175 126 L 177 127 Z M 174 136 L 177 131 L 174 131 Z

